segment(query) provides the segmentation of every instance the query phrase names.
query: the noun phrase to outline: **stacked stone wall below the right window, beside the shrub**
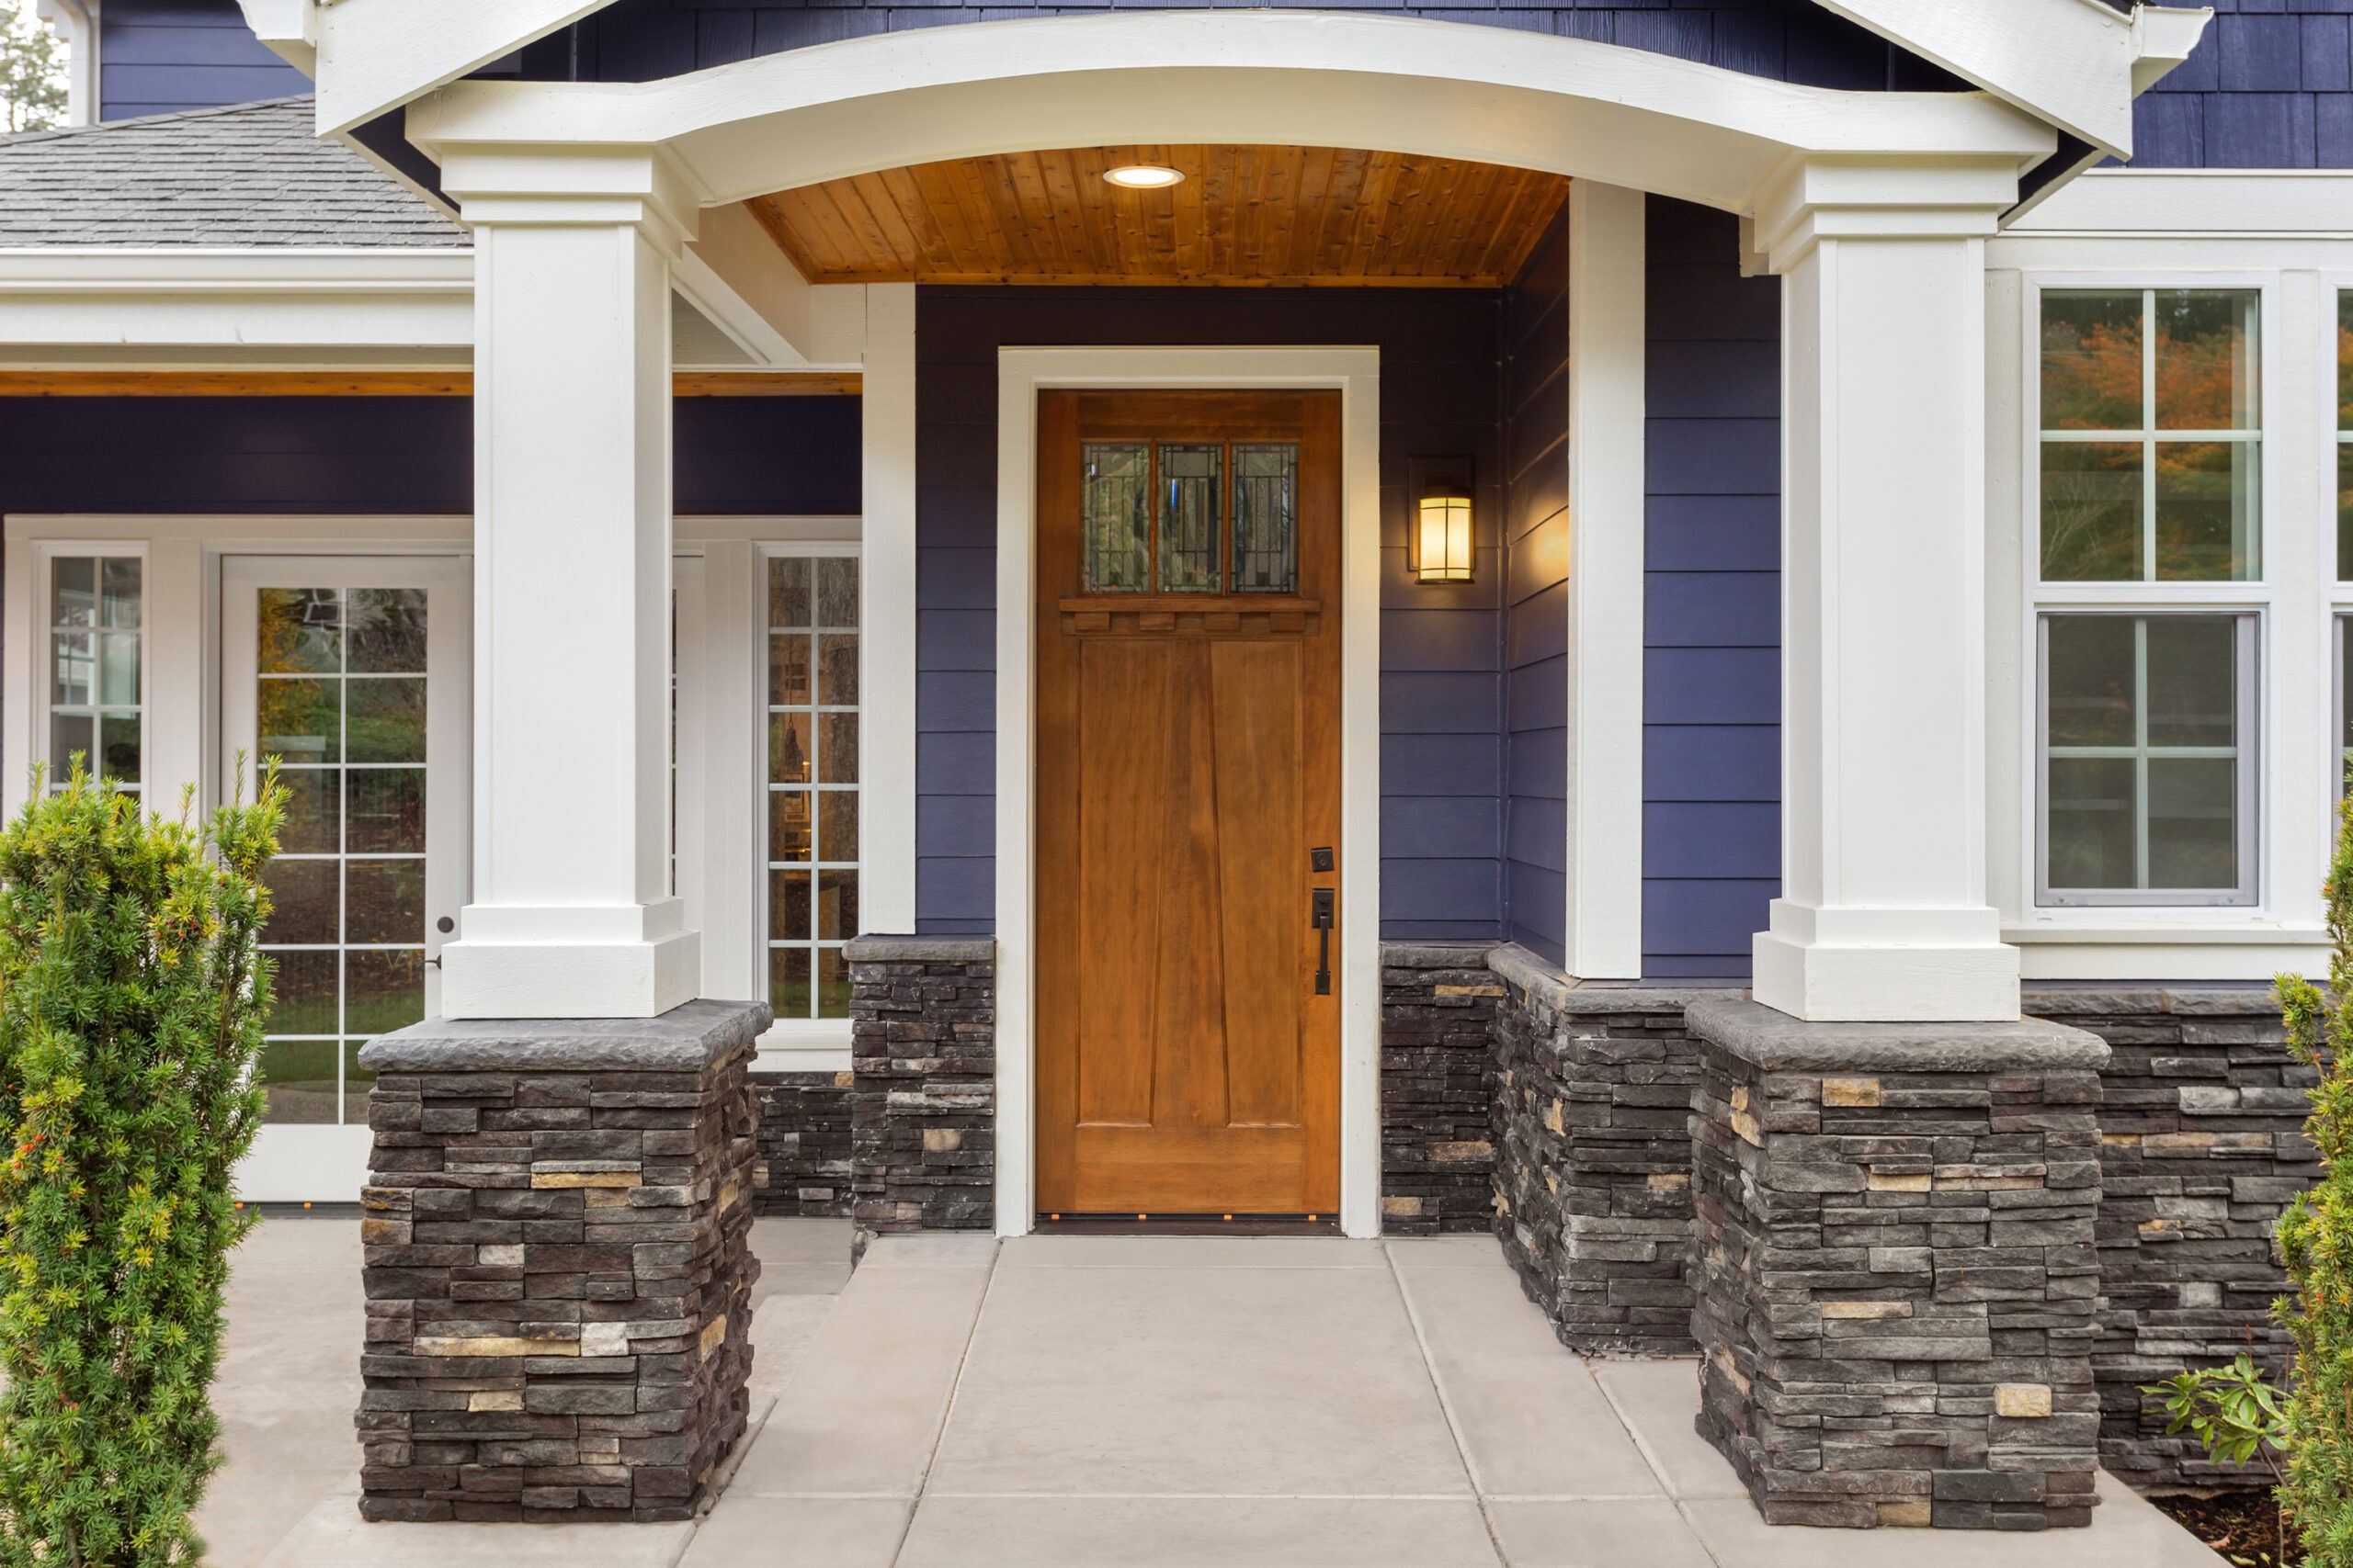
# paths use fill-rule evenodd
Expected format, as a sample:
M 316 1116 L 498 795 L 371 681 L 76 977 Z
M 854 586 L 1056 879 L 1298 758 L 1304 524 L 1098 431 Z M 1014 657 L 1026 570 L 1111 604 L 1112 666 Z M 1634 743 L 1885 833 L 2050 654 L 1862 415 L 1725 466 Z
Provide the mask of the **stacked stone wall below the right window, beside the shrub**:
M 2099 1462 L 2141 1490 L 2261 1486 L 2165 1436 L 2144 1382 L 2238 1352 L 2278 1366 L 2287 1288 L 2271 1229 L 2318 1175 L 2304 1140 L 2313 1072 L 2268 985 L 2028 985 L 2026 1011 L 2092 1030 L 2101 1074 Z

